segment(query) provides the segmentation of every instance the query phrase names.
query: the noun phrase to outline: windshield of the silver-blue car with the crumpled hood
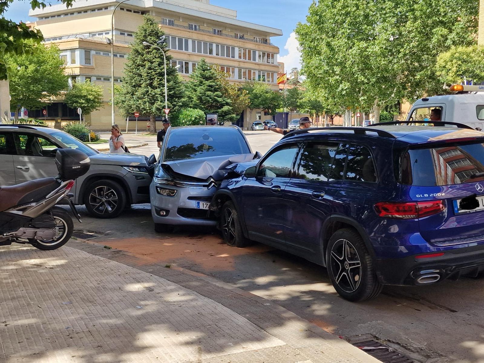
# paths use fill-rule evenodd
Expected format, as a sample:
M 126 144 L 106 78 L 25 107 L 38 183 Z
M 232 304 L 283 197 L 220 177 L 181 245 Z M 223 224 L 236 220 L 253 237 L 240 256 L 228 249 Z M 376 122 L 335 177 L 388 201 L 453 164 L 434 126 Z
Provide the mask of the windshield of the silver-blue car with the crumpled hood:
M 163 161 L 248 153 L 245 139 L 233 127 L 180 128 L 171 130 Z

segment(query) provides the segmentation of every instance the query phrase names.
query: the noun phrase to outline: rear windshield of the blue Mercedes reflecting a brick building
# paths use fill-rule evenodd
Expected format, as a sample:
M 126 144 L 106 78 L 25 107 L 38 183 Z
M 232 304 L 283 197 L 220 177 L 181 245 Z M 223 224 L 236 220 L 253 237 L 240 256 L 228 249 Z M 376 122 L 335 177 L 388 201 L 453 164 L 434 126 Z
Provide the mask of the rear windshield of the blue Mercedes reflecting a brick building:
M 452 185 L 484 181 L 484 144 L 451 144 L 441 148 L 409 150 L 401 158 L 404 184 Z

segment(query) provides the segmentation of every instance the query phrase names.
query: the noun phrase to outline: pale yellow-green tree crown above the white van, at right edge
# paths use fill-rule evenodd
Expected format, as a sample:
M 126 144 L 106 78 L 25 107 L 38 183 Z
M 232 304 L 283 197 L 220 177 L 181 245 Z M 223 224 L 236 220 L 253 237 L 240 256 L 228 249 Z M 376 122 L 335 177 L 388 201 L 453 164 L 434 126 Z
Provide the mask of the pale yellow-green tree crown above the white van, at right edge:
M 464 82 L 464 77 L 481 83 L 484 81 L 484 47 L 451 47 L 437 58 L 436 73 L 439 80 L 446 84 Z

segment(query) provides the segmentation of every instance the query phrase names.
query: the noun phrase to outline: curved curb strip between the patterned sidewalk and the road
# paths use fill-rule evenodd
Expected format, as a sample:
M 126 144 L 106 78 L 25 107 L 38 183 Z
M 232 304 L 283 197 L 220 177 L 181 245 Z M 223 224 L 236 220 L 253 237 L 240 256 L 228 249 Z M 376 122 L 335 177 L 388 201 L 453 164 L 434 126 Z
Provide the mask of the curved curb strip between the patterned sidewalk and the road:
M 314 338 L 320 338 L 322 345 L 333 346 L 337 347 L 337 349 L 343 350 L 345 352 L 344 355 L 348 357 L 348 362 L 380 362 L 362 351 L 361 349 L 352 346 L 346 340 L 340 339 L 339 337 L 336 337 L 324 331 L 317 325 L 301 318 L 300 316 L 287 310 L 281 305 L 278 305 L 260 296 L 254 295 L 251 292 L 242 290 L 239 287 L 227 284 L 214 277 L 207 276 L 200 272 L 194 272 L 185 268 L 181 268 L 176 265 L 171 265 L 170 268 L 166 268 L 166 266 L 164 267 L 158 264 L 145 265 L 141 262 L 141 258 L 135 257 L 129 254 L 127 251 L 114 248 L 107 250 L 103 248 L 101 244 L 98 244 L 94 241 L 86 241 L 76 238 L 76 242 L 73 242 L 71 240 L 70 242 L 68 242 L 68 246 L 80 249 L 84 252 L 88 252 L 98 257 L 115 260 L 121 264 L 128 265 L 144 272 L 155 274 L 182 287 L 191 289 L 192 291 L 195 291 L 198 294 L 205 296 L 214 302 L 218 302 L 224 305 L 228 309 L 241 315 L 243 318 L 246 318 L 253 324 L 257 325 L 259 328 L 270 333 L 271 335 L 283 341 L 286 341 L 286 343 L 289 345 L 291 345 L 291 343 L 294 343 L 296 345 L 301 343 L 299 342 L 301 337 L 299 337 L 298 339 L 297 337 L 293 337 L 291 333 L 288 333 L 288 336 L 286 336 L 285 332 L 281 335 L 281 332 L 279 332 L 278 329 L 272 329 L 272 325 L 268 324 L 268 322 L 274 323 L 274 321 L 277 321 L 279 325 L 287 325 L 288 323 L 297 324 L 300 327 L 299 333 L 301 335 L 311 335 L 311 337 L 307 337 L 308 341 L 313 341 Z M 187 278 L 188 276 L 190 276 L 191 278 Z M 193 279 L 193 277 L 195 277 L 195 280 Z M 199 280 L 206 282 L 208 286 L 204 287 L 203 283 Z M 252 301 L 252 303 L 247 301 L 247 299 L 249 299 L 249 301 Z M 244 300 L 246 301 L 245 303 L 243 302 Z M 256 302 L 257 304 L 254 304 L 254 302 Z M 248 305 L 252 306 L 250 306 L 249 308 Z M 287 338 L 289 337 L 291 339 L 294 339 L 295 342 L 293 342 L 292 340 L 290 342 L 287 342 Z M 310 348 L 311 346 L 312 345 L 308 343 L 306 348 Z

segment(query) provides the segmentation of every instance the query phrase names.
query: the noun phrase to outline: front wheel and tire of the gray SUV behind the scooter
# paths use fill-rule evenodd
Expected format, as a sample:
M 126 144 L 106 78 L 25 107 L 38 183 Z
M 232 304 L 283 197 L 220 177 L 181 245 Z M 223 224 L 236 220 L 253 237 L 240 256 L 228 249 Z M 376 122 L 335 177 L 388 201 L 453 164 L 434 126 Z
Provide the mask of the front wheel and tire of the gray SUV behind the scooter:
M 116 181 L 94 181 L 86 187 L 84 204 L 93 217 L 114 218 L 124 211 L 126 193 Z

